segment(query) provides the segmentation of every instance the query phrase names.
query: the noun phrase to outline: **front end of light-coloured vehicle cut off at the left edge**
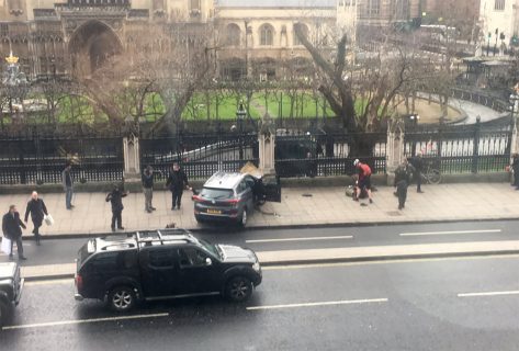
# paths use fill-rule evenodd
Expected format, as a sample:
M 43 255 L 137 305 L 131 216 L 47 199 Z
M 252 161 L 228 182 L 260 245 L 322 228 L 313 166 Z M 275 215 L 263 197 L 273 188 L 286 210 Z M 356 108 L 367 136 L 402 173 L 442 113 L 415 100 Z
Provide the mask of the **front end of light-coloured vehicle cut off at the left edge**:
M 9 320 L 13 307 L 20 303 L 23 282 L 15 262 L 0 263 L 0 327 Z

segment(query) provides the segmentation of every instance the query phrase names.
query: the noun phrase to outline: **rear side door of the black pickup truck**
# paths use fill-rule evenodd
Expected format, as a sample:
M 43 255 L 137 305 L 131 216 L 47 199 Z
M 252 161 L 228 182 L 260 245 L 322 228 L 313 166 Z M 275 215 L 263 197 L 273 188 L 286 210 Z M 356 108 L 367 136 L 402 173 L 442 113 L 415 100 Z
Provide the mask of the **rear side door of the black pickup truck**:
M 174 295 L 177 286 L 177 260 L 172 247 L 150 247 L 140 251 L 140 271 L 145 297 Z

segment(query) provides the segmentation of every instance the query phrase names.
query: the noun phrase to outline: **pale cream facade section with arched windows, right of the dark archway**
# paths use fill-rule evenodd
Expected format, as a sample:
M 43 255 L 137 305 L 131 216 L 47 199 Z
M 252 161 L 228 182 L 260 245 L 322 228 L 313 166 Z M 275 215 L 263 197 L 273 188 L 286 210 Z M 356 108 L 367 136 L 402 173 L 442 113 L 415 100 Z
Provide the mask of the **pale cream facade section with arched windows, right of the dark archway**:
M 222 0 L 215 9 L 221 76 L 236 80 L 256 77 L 283 78 L 287 68 L 307 70 L 311 56 L 295 35 L 301 23 L 309 42 L 318 47 L 334 45 L 336 5 L 330 0 L 305 4 L 300 1 L 261 1 L 244 5 L 244 1 Z M 302 72 L 303 73 L 303 72 Z

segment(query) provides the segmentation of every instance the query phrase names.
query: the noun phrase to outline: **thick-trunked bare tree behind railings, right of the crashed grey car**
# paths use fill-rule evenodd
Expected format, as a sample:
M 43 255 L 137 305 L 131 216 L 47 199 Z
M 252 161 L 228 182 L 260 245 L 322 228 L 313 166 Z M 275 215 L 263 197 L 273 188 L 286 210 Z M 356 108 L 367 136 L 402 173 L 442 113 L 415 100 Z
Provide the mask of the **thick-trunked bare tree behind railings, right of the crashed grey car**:
M 300 24 L 295 25 L 295 34 L 318 68 L 318 90 L 341 118 L 343 127 L 357 135 L 352 152 L 370 155 L 372 145 L 361 134 L 380 128 L 381 118 L 387 116 L 394 98 L 414 79 L 410 70 L 414 53 L 390 44 L 386 38 L 379 53 L 366 57 L 360 66 L 351 66 L 346 59 L 346 35 L 337 43 L 335 60 L 330 61 L 306 38 Z

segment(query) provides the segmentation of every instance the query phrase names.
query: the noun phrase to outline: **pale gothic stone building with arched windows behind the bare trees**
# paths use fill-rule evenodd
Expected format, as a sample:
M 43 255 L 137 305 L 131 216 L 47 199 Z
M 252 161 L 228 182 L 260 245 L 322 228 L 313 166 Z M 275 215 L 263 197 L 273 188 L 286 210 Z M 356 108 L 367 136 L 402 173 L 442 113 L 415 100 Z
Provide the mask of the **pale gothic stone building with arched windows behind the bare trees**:
M 413 18 L 419 0 L 3 0 L 0 55 L 12 50 L 30 79 L 88 75 L 124 54 L 150 26 L 203 37 L 222 76 L 282 77 L 311 57 L 294 34 L 301 22 L 315 45 L 332 49 L 338 8 L 359 5 L 361 25 L 379 26 L 396 13 Z M 179 31 L 182 29 L 182 31 Z M 168 33 L 168 32 L 167 32 Z M 172 32 L 169 32 L 172 33 Z M 195 38 L 188 39 L 196 43 Z M 192 44 L 196 45 L 196 44 Z M 292 63 L 292 65 L 290 64 Z M 4 63 L 2 63 L 4 65 Z M 3 67 L 2 67 L 3 68 Z M 303 68 L 302 68 L 303 69 Z

